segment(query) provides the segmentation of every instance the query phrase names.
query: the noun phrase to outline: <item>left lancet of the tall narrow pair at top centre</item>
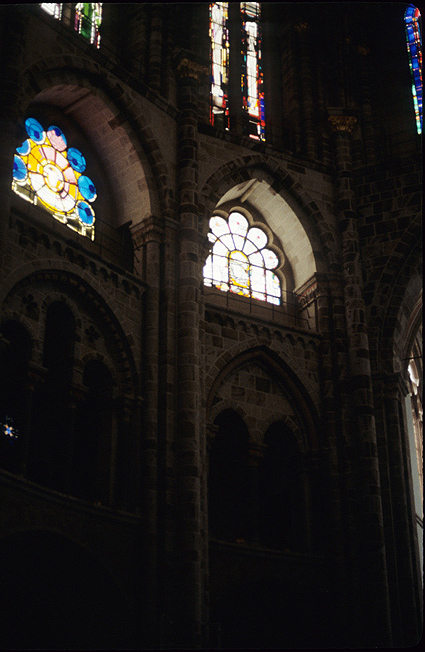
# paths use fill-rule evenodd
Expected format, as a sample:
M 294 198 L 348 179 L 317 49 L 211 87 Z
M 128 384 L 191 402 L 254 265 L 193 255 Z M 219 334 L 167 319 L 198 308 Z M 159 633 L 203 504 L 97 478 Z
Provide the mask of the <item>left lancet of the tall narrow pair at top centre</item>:
M 228 3 L 210 5 L 211 39 L 211 111 L 212 125 L 229 128 L 227 82 L 229 76 L 229 30 L 227 28 Z

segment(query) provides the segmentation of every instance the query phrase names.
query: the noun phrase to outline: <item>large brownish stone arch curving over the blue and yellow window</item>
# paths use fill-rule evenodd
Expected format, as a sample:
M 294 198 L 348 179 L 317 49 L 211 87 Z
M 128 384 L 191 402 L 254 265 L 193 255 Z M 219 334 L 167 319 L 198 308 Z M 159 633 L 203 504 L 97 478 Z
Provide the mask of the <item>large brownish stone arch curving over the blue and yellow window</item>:
M 114 186 L 119 224 L 131 221 L 135 226 L 152 214 L 170 212 L 173 192 L 161 148 L 142 109 L 134 108 L 117 79 L 105 75 L 93 60 L 67 54 L 29 67 L 22 88 L 21 119 L 29 105 L 45 103 L 81 127 Z

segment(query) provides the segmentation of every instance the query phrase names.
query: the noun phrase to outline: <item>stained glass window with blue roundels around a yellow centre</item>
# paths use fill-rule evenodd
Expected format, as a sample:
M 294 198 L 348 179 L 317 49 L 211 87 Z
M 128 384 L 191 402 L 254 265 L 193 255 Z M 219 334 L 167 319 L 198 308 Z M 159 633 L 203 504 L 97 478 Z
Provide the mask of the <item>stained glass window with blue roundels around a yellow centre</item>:
M 35 118 L 25 121 L 27 140 L 16 148 L 13 190 L 33 204 L 41 204 L 57 220 L 94 240 L 97 197 L 93 181 L 85 174 L 80 150 L 68 147 L 62 130 L 45 131 Z

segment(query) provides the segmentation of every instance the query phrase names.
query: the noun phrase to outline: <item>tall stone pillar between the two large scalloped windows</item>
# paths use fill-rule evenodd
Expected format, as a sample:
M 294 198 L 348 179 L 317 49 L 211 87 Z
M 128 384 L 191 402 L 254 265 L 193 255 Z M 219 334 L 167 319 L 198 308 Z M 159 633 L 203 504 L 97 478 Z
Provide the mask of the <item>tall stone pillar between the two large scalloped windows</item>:
M 202 260 L 198 228 L 198 80 L 208 69 L 180 60 L 178 120 L 178 290 L 176 431 L 176 636 L 200 647 L 202 614 L 201 359 Z

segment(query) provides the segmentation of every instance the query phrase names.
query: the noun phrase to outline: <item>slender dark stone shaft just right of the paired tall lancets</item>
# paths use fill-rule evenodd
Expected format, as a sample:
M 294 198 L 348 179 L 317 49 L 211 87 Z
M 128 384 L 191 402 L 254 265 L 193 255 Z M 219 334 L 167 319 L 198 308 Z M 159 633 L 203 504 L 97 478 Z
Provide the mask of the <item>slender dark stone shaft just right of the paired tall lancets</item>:
M 309 25 L 308 23 L 298 23 L 295 26 L 299 38 L 299 54 L 300 54 L 300 76 L 301 76 L 301 89 L 302 89 L 302 115 L 303 115 L 303 133 L 305 142 L 305 153 L 309 158 L 317 158 L 316 147 L 316 129 L 314 119 L 314 100 L 313 100 L 313 84 L 311 78 L 311 54 L 310 54 L 310 40 L 309 40 Z

